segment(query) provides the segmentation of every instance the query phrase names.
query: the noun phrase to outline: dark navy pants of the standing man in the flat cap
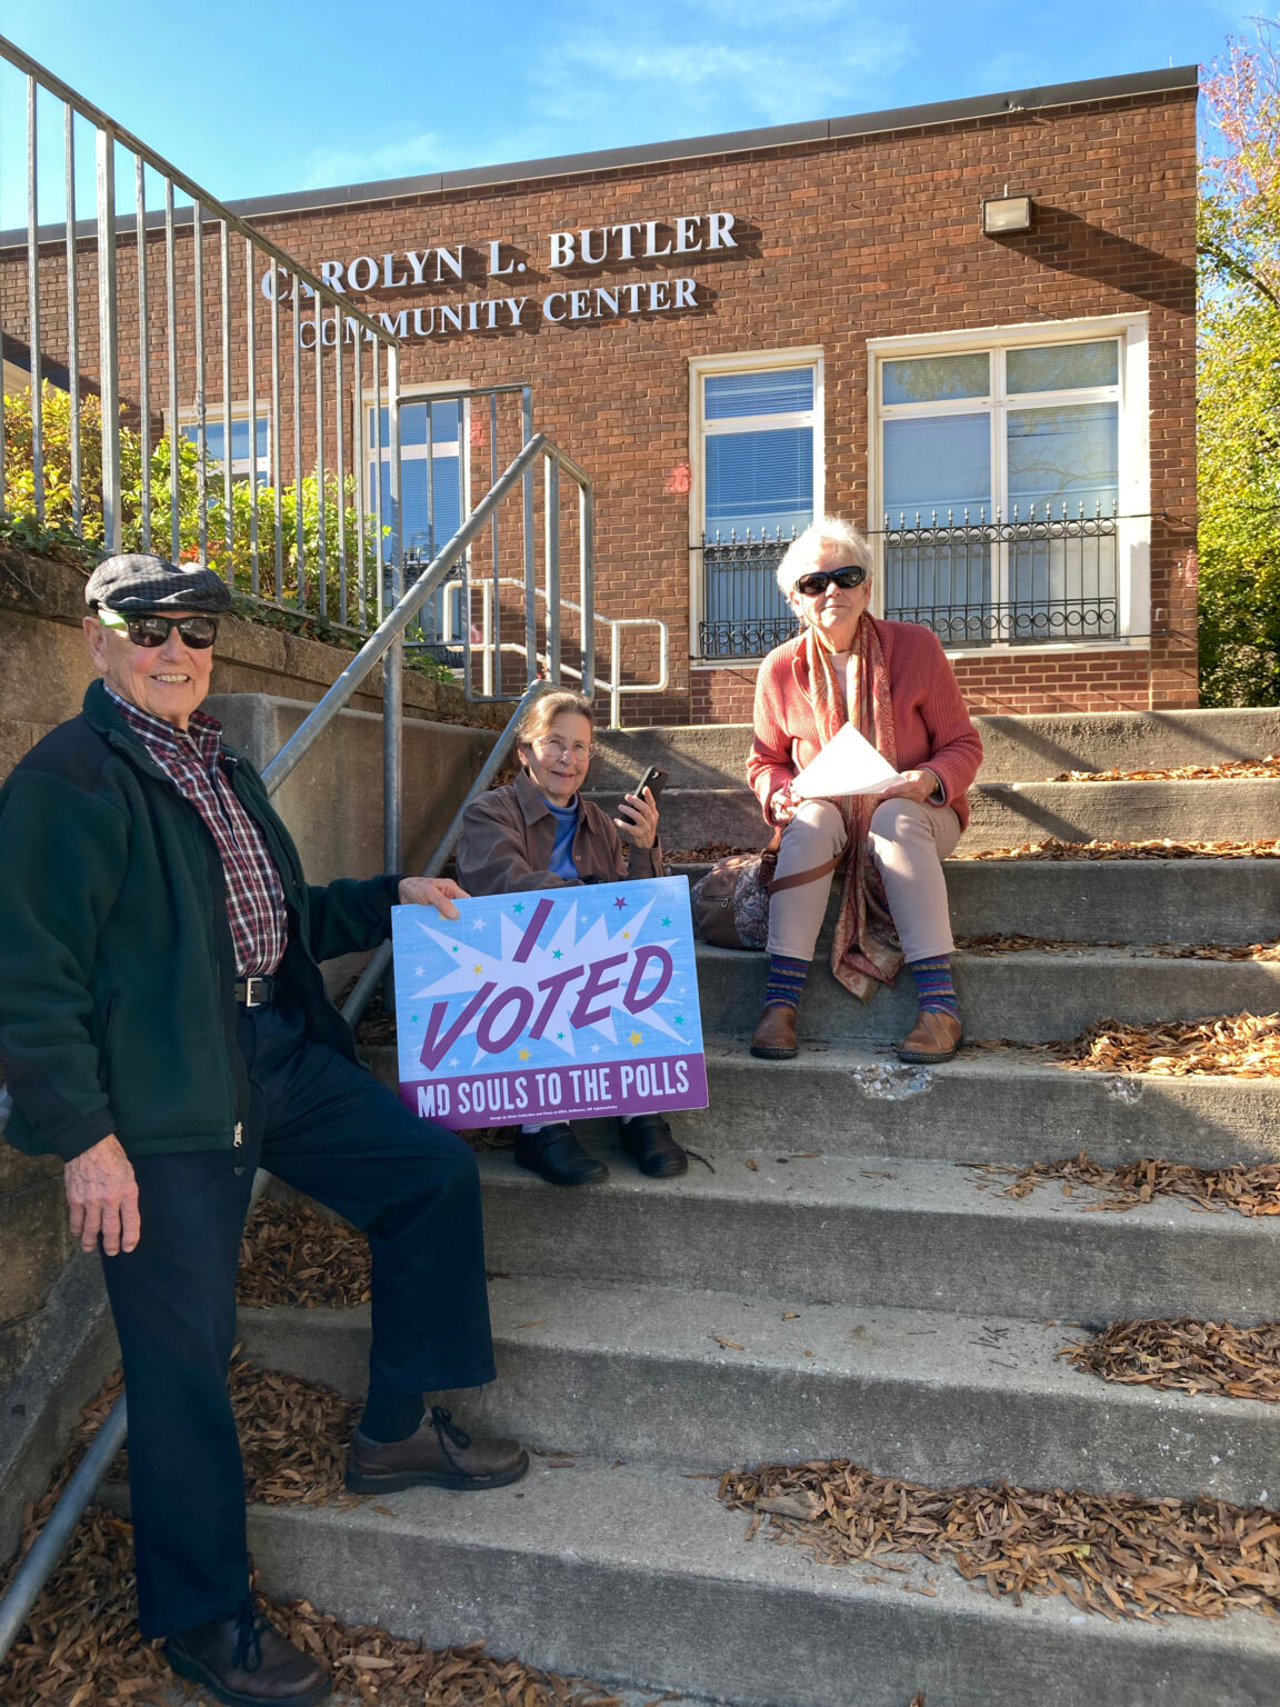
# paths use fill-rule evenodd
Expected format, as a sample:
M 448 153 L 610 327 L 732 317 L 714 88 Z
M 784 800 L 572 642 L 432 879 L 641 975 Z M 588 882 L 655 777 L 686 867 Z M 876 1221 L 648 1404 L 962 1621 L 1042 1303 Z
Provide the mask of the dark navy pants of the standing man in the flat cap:
M 242 1145 L 138 1157 L 142 1238 L 128 1255 L 102 1258 L 125 1362 L 147 1637 L 227 1617 L 247 1594 L 227 1364 L 258 1166 L 369 1236 L 370 1391 L 493 1379 L 480 1180 L 468 1145 L 418 1120 L 364 1069 L 309 1043 L 287 999 L 242 1012 L 241 1050 L 253 1089 Z

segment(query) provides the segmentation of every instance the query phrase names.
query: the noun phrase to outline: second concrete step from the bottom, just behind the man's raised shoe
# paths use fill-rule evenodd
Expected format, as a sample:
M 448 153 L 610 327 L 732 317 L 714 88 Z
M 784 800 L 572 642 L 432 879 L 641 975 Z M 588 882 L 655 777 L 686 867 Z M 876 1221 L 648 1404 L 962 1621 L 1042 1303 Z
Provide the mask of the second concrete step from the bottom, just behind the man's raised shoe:
M 855 1458 L 918 1482 L 1266 1500 L 1278 1407 L 1101 1381 L 1056 1355 L 1079 1330 L 978 1314 L 968 1270 L 952 1285 L 963 1314 L 495 1279 L 498 1379 L 440 1401 L 541 1451 L 689 1470 Z M 266 1367 L 365 1389 L 367 1308 L 246 1309 L 239 1335 Z

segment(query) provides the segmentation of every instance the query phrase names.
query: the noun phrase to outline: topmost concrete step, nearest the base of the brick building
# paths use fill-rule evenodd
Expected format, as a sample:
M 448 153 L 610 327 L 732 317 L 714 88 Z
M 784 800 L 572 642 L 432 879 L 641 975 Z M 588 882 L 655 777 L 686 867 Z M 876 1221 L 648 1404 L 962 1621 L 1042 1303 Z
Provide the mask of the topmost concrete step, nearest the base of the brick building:
M 1280 753 L 1275 707 L 1212 712 L 1063 712 L 1050 717 L 976 717 L 983 782 L 1043 782 L 1063 770 L 1171 770 Z M 749 724 L 683 729 L 602 729 L 592 789 L 621 789 L 647 765 L 664 765 L 671 787 L 722 789 L 746 778 Z

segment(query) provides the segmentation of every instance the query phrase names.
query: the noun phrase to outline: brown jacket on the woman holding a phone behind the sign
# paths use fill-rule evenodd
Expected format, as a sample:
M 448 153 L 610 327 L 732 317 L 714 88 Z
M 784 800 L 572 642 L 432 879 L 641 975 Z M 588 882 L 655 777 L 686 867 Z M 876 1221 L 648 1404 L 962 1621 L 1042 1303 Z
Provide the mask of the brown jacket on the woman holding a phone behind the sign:
M 526 772 L 505 789 L 473 801 L 457 843 L 457 881 L 468 894 L 507 894 L 512 889 L 568 888 L 572 879 L 551 874 L 556 821 L 541 790 Z M 573 835 L 579 883 L 618 883 L 626 877 L 664 877 L 662 848 L 631 848 L 628 867 L 623 838 L 611 818 L 579 794 L 579 828 Z

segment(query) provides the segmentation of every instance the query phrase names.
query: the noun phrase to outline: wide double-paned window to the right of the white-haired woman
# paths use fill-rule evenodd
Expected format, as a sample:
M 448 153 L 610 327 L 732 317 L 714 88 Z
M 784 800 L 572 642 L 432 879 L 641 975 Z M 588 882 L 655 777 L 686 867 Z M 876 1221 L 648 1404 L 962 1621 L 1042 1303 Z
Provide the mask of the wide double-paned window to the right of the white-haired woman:
M 947 647 L 1145 632 L 1121 574 L 1126 524 L 1145 536 L 1145 324 L 1087 324 L 872 345 L 886 616 Z

